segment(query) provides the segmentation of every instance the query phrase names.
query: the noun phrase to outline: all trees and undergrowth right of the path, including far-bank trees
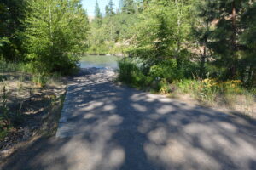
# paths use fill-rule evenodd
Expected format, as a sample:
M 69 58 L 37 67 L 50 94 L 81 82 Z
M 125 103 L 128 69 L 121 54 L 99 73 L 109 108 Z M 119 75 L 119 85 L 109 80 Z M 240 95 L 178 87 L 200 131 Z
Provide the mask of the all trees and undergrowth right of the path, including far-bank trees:
M 103 16 L 96 6 L 89 38 L 91 54 L 129 56 L 119 62 L 119 81 L 255 116 L 255 1 L 120 4 L 115 12 L 109 1 Z

